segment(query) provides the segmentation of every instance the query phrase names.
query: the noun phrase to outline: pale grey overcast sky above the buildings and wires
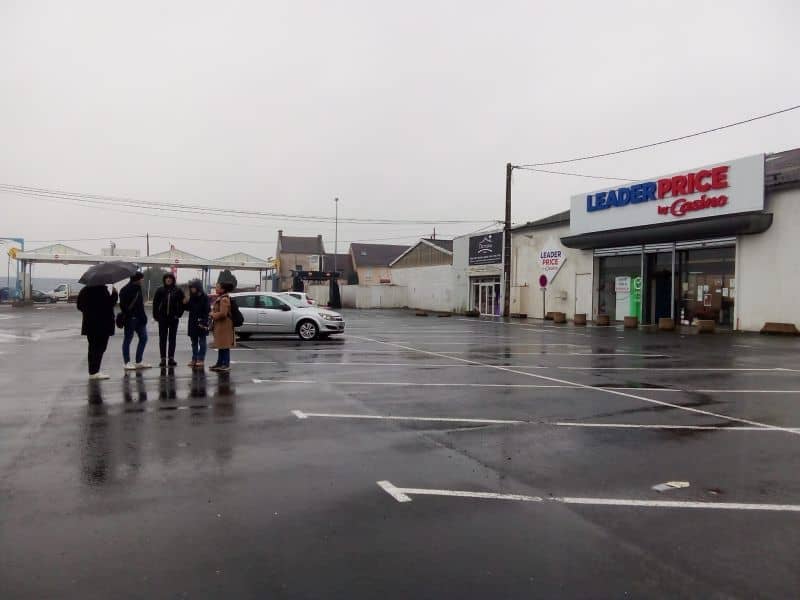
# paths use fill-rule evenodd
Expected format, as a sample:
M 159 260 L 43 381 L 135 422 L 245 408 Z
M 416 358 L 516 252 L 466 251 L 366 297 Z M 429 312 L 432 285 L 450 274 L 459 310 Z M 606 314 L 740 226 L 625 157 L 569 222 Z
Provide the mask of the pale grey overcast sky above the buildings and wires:
M 332 215 L 339 196 L 347 217 L 502 219 L 506 162 L 613 150 L 800 103 L 798 22 L 794 0 L 0 0 L 0 183 L 318 215 Z M 797 147 L 798 131 L 800 111 L 559 168 L 643 178 Z M 514 221 L 607 185 L 518 172 Z M 6 193 L 0 203 L 0 236 L 27 240 L 149 231 L 165 236 L 153 251 L 173 241 L 201 256 L 267 257 L 283 228 L 321 233 L 333 250 L 327 224 L 187 221 Z M 342 225 L 339 249 L 431 229 Z M 144 249 L 141 239 L 117 244 Z

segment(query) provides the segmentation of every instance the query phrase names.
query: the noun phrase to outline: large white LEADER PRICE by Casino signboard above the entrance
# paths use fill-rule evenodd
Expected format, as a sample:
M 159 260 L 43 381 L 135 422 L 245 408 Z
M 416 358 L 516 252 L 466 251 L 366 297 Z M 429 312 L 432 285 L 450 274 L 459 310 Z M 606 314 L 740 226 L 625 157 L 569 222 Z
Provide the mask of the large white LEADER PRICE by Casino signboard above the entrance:
M 764 209 L 764 155 L 573 196 L 570 235 Z

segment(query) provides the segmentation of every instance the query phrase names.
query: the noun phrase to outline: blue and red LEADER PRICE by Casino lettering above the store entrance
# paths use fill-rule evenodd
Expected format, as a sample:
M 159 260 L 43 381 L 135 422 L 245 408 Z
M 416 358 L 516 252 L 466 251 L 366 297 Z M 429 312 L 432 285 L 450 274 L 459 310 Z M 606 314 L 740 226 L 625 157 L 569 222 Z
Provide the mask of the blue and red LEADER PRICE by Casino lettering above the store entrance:
M 700 169 L 681 175 L 673 175 L 656 181 L 645 181 L 628 187 L 619 187 L 586 196 L 586 210 L 596 212 L 610 208 L 621 208 L 629 204 L 643 204 L 674 198 L 670 205 L 658 205 L 659 215 L 685 216 L 688 212 L 725 206 L 728 196 L 712 195 L 728 187 L 729 165 Z M 701 194 L 699 198 L 686 196 Z

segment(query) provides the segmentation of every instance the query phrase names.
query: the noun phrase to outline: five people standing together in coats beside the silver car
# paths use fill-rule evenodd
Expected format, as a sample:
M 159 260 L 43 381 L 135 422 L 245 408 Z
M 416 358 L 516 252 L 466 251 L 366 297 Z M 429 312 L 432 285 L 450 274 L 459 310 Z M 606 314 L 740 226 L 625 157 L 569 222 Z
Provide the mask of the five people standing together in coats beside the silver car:
M 151 364 L 144 362 L 144 351 L 147 346 L 147 313 L 145 312 L 142 281 L 144 275 L 135 273 L 130 281 L 117 293 L 112 287 L 109 292 L 104 285 L 87 286 L 78 295 L 78 310 L 83 313 L 81 334 L 86 336 L 89 344 L 88 363 L 90 379 L 108 379 L 108 375 L 100 372 L 103 354 L 108 347 L 108 339 L 114 335 L 115 326 L 123 330 L 122 360 L 127 371 L 149 369 Z M 159 366 L 175 367 L 175 347 L 177 344 L 178 326 L 184 313 L 188 313 L 187 334 L 192 344 L 193 369 L 205 368 L 206 338 L 213 333 L 214 345 L 217 348 L 217 362 L 212 371 L 230 370 L 230 349 L 236 344 L 231 315 L 231 300 L 228 294 L 233 291 L 233 284 L 217 283 L 217 298 L 213 306 L 203 290 L 199 279 L 189 282 L 189 293 L 176 285 L 175 276 L 167 273 L 163 277 L 163 285 L 153 296 L 153 319 L 158 323 L 158 348 L 161 356 Z M 114 307 L 119 300 L 120 313 L 114 315 Z M 131 360 L 131 343 L 136 336 L 135 360 Z

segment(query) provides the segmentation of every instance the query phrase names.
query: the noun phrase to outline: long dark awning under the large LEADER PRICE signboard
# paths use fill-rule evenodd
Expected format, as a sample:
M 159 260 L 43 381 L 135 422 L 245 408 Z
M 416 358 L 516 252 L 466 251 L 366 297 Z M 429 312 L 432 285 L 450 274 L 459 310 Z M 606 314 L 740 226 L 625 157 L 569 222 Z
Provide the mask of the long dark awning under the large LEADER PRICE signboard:
M 567 248 L 588 250 L 614 246 L 634 246 L 663 242 L 682 242 L 714 237 L 762 233 L 772 225 L 772 213 L 749 212 L 721 217 L 707 217 L 667 224 L 595 231 L 561 238 Z

